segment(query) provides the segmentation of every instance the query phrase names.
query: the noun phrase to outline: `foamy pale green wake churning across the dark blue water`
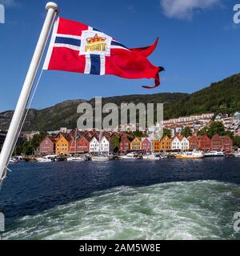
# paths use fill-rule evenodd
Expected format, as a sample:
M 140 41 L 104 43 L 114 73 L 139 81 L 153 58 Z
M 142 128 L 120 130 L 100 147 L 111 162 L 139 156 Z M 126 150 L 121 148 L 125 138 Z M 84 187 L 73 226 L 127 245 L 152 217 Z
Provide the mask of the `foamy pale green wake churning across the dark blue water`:
M 19 218 L 3 239 L 240 239 L 240 187 L 215 181 L 120 186 Z

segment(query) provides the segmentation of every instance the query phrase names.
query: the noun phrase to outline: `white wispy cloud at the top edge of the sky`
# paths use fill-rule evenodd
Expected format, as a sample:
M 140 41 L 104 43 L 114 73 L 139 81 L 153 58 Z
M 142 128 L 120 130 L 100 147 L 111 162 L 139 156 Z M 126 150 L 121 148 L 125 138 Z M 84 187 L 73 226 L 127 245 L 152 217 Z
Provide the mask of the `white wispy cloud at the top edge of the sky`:
M 168 18 L 192 18 L 194 10 L 210 8 L 221 0 L 160 0 L 162 10 Z

